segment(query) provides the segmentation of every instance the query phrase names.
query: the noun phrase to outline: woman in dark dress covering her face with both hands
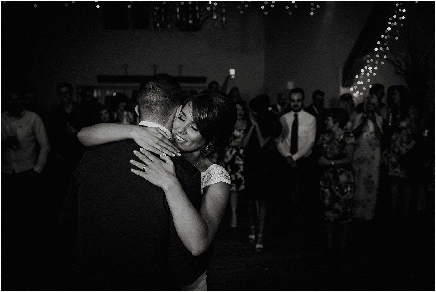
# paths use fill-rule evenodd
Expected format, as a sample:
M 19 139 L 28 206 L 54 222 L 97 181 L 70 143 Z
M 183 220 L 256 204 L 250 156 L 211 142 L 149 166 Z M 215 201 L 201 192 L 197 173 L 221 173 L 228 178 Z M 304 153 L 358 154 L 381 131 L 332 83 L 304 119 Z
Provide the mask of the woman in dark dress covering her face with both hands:
M 242 141 L 245 147 L 244 176 L 245 193 L 249 197 L 249 240 L 256 240 L 256 222 L 258 225 L 256 251 L 264 248 L 263 235 L 265 227 L 266 201 L 275 184 L 276 150 L 274 138 L 280 134 L 281 127 L 277 117 L 269 110 L 271 103 L 266 94 L 259 95 L 249 101 L 250 124 Z M 253 211 L 253 203 L 256 211 Z

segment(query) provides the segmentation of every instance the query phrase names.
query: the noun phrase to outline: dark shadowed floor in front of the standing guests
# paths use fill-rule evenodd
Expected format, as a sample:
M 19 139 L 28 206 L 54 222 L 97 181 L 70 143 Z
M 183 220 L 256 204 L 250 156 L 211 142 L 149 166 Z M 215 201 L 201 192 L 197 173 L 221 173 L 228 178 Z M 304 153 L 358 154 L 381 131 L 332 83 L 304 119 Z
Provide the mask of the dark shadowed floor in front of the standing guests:
M 208 269 L 209 290 L 435 289 L 434 213 L 409 223 L 394 224 L 386 218 L 354 223 L 348 253 L 328 255 L 322 222 L 297 217 L 286 221 L 282 211 L 278 201 L 269 204 L 265 250 L 260 253 L 247 240 L 246 202 L 239 204 L 236 228 L 229 227 L 226 211 Z M 68 290 L 54 268 L 55 217 L 45 214 L 36 219 L 47 225 L 35 234 L 34 249 L 26 260 L 12 268 L 7 263 L 15 258 L 2 216 L 2 290 Z

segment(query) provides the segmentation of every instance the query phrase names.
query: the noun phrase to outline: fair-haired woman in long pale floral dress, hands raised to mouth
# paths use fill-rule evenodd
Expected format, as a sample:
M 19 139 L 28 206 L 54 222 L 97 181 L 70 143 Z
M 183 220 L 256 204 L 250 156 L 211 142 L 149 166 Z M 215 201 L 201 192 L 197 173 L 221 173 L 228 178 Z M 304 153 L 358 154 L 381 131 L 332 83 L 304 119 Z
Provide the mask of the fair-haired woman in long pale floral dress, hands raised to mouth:
M 376 112 L 378 99 L 374 95 L 364 100 L 364 112 L 353 121 L 356 138 L 353 168 L 356 183 L 354 217 L 372 220 L 378 192 L 380 148 L 383 141 L 383 119 Z

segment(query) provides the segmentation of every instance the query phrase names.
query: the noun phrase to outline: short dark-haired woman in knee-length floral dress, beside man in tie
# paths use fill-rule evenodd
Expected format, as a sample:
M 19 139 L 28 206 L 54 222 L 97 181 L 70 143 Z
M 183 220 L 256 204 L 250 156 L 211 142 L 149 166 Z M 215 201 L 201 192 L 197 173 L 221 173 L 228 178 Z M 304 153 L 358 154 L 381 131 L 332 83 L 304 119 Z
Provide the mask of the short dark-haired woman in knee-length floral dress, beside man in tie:
M 322 153 L 319 163 L 323 167 L 320 192 L 329 252 L 333 251 L 333 234 L 337 225 L 342 230 L 339 250 L 345 251 L 353 217 L 354 177 L 351 163 L 356 141 L 351 132 L 344 130 L 348 120 L 345 110 L 331 109 L 325 121 L 330 131 L 322 134 L 318 141 Z

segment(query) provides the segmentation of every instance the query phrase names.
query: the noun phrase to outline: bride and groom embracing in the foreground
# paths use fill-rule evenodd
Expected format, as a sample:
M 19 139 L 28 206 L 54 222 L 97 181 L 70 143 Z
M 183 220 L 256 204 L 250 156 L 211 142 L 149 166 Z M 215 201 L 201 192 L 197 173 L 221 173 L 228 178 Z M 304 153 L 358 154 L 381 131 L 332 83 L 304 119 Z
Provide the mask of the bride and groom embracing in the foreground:
M 82 129 L 88 146 L 59 227 L 77 289 L 207 290 L 230 178 L 208 156 L 229 143 L 235 104 L 156 74 L 138 90 L 139 125 Z M 64 253 L 68 254 L 68 253 Z

